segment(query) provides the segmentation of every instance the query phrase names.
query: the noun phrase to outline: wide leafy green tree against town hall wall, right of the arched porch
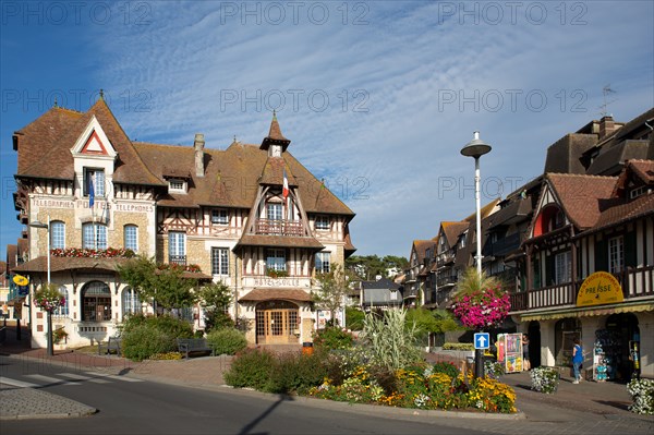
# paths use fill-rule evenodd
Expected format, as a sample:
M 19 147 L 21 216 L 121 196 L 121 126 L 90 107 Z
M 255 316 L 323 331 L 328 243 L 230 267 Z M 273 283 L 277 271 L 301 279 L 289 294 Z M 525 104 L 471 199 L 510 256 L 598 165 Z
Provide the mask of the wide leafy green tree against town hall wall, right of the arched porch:
M 118 271 L 142 299 L 152 299 L 164 310 L 191 306 L 196 301 L 193 289 L 197 279 L 183 277 L 183 267 L 157 265 L 154 258 L 142 255 L 118 266 Z

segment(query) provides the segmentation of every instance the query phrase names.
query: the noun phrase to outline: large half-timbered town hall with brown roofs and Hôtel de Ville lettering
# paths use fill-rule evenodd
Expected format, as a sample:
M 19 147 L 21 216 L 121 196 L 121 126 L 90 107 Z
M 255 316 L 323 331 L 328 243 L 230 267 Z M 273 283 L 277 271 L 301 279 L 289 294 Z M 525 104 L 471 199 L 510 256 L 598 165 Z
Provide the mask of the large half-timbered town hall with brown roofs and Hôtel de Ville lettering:
M 222 281 L 252 343 L 311 340 L 315 275 L 354 252 L 354 214 L 288 152 L 275 114 L 261 145 L 234 140 L 219 150 L 203 134 L 193 146 L 132 142 L 100 98 L 87 112 L 53 107 L 13 141 L 31 258 L 15 271 L 29 275 L 33 291 L 46 282 L 49 233 L 51 281 L 68 301 L 55 327 L 69 346 L 102 340 L 128 313 L 153 310 L 121 281 L 126 259 L 114 252 Z M 180 315 L 204 327 L 199 306 Z M 44 318 L 32 310 L 36 346 L 46 343 Z

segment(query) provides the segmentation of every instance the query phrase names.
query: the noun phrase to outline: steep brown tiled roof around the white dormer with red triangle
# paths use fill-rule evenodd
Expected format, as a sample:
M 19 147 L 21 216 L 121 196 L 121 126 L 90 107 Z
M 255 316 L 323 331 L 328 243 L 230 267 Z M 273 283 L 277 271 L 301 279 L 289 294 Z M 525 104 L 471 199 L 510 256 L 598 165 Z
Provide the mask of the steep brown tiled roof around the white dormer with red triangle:
M 94 116 L 120 159 L 116 165 L 113 181 L 162 185 L 164 183 L 141 160 L 132 142 L 102 98 L 98 99 L 86 113 L 52 108 L 17 131 L 20 148 L 17 176 L 72 180 L 74 166 L 71 148 Z

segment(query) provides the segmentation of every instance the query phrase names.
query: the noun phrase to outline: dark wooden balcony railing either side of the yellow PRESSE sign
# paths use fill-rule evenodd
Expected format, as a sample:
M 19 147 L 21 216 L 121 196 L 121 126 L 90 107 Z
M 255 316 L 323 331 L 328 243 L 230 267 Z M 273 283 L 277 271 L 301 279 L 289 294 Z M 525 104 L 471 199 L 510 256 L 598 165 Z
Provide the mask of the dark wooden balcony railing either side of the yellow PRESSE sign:
M 625 299 L 654 295 L 654 266 L 628 268 L 614 276 L 622 287 Z M 582 280 L 511 293 L 511 312 L 574 305 Z

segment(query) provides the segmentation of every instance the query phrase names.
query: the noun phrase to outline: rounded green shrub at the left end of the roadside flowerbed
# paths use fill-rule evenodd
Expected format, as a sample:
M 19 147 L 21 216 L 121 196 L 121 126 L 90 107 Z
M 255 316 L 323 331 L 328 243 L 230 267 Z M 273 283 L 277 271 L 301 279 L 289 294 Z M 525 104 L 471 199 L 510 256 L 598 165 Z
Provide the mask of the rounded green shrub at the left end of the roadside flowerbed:
M 225 382 L 234 388 L 254 388 L 265 391 L 275 365 L 275 355 L 258 349 L 245 349 L 237 354 L 230 368 L 225 373 Z

